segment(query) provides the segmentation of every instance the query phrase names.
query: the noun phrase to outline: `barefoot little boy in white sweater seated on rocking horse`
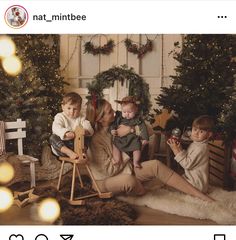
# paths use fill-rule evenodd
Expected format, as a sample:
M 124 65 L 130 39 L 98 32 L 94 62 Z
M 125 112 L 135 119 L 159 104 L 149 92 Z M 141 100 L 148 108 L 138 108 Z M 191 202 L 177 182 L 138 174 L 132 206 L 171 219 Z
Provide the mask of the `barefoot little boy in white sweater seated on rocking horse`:
M 72 150 L 74 147 L 74 130 L 81 126 L 85 136 L 92 136 L 94 130 L 88 120 L 81 115 L 82 98 L 75 92 L 67 93 L 62 100 L 62 112 L 58 113 L 52 124 L 53 134 L 50 137 L 52 151 L 57 156 L 68 156 L 76 159 L 79 156 Z

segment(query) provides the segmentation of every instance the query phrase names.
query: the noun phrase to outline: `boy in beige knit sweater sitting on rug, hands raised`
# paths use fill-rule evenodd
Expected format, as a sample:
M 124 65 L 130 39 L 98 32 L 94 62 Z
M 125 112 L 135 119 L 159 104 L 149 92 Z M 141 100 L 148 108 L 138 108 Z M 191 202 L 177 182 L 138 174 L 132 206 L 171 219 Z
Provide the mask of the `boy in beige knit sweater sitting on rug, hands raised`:
M 196 118 L 192 124 L 191 140 L 187 150 L 180 143 L 169 139 L 167 144 L 172 149 L 175 160 L 184 168 L 184 177 L 194 187 L 206 193 L 209 184 L 208 140 L 212 136 L 213 119 L 208 115 Z

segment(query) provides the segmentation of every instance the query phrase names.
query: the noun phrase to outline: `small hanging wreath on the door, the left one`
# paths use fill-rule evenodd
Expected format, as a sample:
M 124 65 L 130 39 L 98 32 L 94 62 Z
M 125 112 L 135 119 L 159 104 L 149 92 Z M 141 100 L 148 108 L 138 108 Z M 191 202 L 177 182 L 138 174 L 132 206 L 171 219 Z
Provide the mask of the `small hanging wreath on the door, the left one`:
M 89 41 L 84 44 L 84 53 L 90 53 L 93 55 L 104 54 L 109 55 L 114 48 L 115 44 L 112 39 L 108 40 L 107 43 L 103 46 L 96 47 L 94 44 Z

